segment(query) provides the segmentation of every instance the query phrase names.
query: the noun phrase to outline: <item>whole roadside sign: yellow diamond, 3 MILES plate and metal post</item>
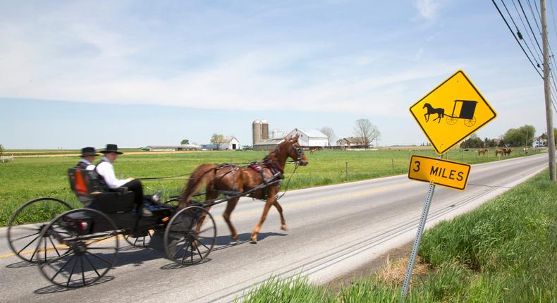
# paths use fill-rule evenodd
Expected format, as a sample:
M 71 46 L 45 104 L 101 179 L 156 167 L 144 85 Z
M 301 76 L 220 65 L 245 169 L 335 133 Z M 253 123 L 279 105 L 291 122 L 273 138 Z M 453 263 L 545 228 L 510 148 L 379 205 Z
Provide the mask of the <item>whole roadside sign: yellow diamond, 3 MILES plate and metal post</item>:
M 439 156 L 437 156 L 438 160 L 424 156 L 412 156 L 410 159 L 408 178 L 429 182 L 429 190 L 412 246 L 412 254 L 408 261 L 400 302 L 404 302 L 408 287 L 410 287 L 412 269 L 416 262 L 418 248 L 420 248 L 420 240 L 424 233 L 435 185 L 443 185 L 454 190 L 465 190 L 470 174 L 470 165 L 439 159 L 458 142 L 465 140 L 497 116 L 497 113 L 463 70 L 458 70 L 410 106 L 410 113 Z M 413 168 L 412 164 L 415 164 Z

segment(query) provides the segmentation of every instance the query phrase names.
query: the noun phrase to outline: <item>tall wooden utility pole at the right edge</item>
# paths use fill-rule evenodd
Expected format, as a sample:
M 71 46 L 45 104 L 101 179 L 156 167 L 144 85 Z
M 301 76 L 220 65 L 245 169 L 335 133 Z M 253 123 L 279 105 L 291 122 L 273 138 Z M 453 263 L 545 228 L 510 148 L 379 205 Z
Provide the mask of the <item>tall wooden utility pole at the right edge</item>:
M 544 90 L 546 95 L 549 179 L 555 182 L 555 138 L 553 136 L 553 111 L 551 111 L 551 87 L 549 87 L 549 42 L 547 41 L 546 0 L 539 0 L 539 7 L 541 10 L 541 37 L 544 44 Z

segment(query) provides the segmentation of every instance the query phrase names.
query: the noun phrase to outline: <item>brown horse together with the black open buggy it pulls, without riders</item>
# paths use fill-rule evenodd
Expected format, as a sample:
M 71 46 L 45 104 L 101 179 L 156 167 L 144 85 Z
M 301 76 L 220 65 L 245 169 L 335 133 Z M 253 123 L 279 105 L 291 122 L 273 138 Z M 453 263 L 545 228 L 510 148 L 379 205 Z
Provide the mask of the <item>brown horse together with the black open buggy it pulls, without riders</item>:
M 54 198 L 27 202 L 11 217 L 8 244 L 20 259 L 37 264 L 47 280 L 61 287 L 82 287 L 99 281 L 116 266 L 122 239 L 135 247 L 161 250 L 179 266 L 199 264 L 207 259 L 216 242 L 211 206 L 228 202 L 223 218 L 233 240 L 237 235 L 230 215 L 240 197 L 267 201 L 252 241 L 257 242 L 257 233 L 270 206 L 279 210 L 281 228 L 286 229 L 276 198 L 286 159 L 292 158 L 297 165 L 307 164 L 297 139 L 285 140 L 263 161 L 246 166 L 231 163 L 200 166 L 188 179 L 183 195 L 166 202 L 152 202 L 149 206 L 152 216 L 144 216 L 135 209 L 133 192 L 126 188 L 109 190 L 99 182 L 95 171 L 70 168 L 71 190 L 84 208 L 72 209 L 68 203 Z M 202 187 L 206 192 L 200 192 Z M 192 199 L 202 194 L 206 195 L 204 201 Z M 18 225 L 34 214 L 42 214 L 42 218 L 46 214 L 51 221 Z

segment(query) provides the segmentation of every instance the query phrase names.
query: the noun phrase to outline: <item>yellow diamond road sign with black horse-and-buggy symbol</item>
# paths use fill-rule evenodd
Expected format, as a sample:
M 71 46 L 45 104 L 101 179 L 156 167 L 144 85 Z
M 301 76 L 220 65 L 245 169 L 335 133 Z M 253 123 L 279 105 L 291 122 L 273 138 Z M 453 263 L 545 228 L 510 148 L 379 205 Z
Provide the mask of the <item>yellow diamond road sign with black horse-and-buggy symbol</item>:
M 446 153 L 497 116 L 462 70 L 410 106 L 410 113 L 437 154 Z

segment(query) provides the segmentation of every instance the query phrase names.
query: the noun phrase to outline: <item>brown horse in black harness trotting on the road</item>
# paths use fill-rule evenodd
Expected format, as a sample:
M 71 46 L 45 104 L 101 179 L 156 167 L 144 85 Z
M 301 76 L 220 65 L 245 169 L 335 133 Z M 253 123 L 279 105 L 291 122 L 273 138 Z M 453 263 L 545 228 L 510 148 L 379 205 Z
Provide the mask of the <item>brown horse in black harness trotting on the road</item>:
M 272 152 L 269 152 L 269 155 L 266 156 L 263 161 L 257 162 L 255 165 L 239 167 L 233 164 L 202 164 L 198 166 L 190 176 L 188 185 L 180 199 L 179 207 L 184 208 L 190 206 L 190 200 L 193 195 L 199 193 L 203 187 L 205 187 L 207 192 L 205 194 L 207 200 L 216 199 L 219 193 L 223 191 L 247 192 L 248 190 L 252 190 L 258 185 L 269 182 L 269 180 L 277 174 L 281 175 L 288 158 L 293 159 L 300 164 L 300 166 L 307 165 L 307 158 L 305 157 L 304 150 L 300 147 L 300 144 L 298 144 L 298 136 L 283 140 Z M 267 185 L 261 190 L 256 190 L 248 195 L 248 197 L 254 199 L 267 201 L 261 219 L 259 219 L 259 223 L 252 232 L 251 240 L 253 243 L 257 243 L 257 234 L 261 229 L 261 225 L 267 218 L 271 206 L 275 206 L 277 211 L 279 211 L 279 215 L 281 216 L 281 229 L 286 230 L 286 221 L 282 214 L 282 207 L 279 202 L 276 201 L 276 194 L 279 192 L 279 186 L 280 183 Z M 240 198 L 228 200 L 226 210 L 223 214 L 224 221 L 226 221 L 230 229 L 231 237 L 235 241 L 238 240 L 238 233 L 236 233 L 230 218 L 232 211 L 238 203 L 238 199 Z M 210 208 L 210 206 L 207 207 L 207 211 L 209 211 Z M 199 232 L 203 220 L 199 222 L 200 224 L 196 226 L 197 232 Z

